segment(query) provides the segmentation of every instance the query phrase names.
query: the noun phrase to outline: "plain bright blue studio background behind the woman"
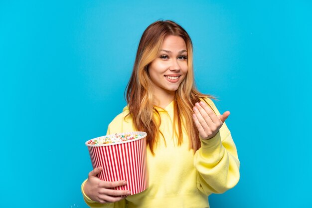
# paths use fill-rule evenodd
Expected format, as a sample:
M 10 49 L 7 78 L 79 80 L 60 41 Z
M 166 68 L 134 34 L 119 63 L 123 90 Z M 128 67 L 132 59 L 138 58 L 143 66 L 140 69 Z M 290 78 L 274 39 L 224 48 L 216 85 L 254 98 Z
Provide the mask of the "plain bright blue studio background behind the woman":
M 86 208 L 84 142 L 126 105 L 138 42 L 157 19 L 190 34 L 241 180 L 211 208 L 311 208 L 309 0 L 1 1 L 0 207 Z

